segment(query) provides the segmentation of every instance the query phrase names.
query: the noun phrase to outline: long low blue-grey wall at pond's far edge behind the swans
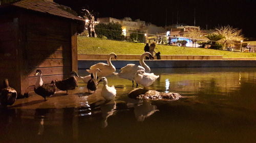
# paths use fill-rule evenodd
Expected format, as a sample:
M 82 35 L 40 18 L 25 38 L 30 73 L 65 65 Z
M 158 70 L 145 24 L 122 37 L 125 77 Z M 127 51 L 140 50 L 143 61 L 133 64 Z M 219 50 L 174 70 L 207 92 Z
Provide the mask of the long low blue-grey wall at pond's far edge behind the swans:
M 106 60 L 79 60 L 79 69 L 89 69 L 97 63 L 106 63 Z M 256 67 L 255 60 L 146 60 L 145 63 L 151 68 L 191 68 L 191 67 Z M 139 65 L 139 61 L 119 60 L 112 61 L 117 68 L 122 68 L 127 64 Z

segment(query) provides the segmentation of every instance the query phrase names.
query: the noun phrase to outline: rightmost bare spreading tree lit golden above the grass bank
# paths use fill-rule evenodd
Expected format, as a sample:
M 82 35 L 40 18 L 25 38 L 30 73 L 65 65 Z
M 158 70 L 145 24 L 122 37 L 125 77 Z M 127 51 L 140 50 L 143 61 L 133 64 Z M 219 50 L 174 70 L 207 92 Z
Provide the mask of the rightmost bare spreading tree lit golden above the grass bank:
M 225 37 L 222 39 L 223 48 L 226 47 L 227 42 L 241 41 L 244 39 L 244 36 L 242 35 L 242 30 L 239 30 L 238 28 L 233 28 L 230 25 L 219 26 L 215 28 L 215 33 Z

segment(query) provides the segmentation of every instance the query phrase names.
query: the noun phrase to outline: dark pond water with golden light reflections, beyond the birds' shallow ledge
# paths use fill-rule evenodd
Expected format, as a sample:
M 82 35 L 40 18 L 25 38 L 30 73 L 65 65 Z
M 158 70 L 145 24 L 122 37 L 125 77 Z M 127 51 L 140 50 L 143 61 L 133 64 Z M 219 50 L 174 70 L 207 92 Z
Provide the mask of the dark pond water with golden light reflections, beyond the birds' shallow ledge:
M 117 97 L 98 107 L 1 110 L 0 142 L 256 142 L 256 68 L 152 72 L 151 89 L 184 98 L 130 99 L 132 82 L 109 77 Z

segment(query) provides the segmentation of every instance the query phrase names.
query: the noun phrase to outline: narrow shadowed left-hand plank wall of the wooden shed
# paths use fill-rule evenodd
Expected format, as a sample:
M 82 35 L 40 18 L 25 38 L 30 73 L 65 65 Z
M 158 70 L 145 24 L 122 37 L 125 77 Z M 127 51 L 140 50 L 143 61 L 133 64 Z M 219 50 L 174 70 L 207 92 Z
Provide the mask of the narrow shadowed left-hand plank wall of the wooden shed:
M 20 84 L 17 82 L 17 35 L 18 23 L 10 15 L 1 18 L 9 19 L 0 20 L 0 89 L 3 88 L 3 81 L 8 78 L 9 85 L 20 92 Z

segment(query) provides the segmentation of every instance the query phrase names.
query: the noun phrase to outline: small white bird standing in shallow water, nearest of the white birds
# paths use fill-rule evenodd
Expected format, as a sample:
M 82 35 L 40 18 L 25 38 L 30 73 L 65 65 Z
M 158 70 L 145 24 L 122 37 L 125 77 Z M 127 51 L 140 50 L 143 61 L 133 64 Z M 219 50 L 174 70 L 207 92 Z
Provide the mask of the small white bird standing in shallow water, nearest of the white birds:
M 109 87 L 108 80 L 105 77 L 102 77 L 100 81 L 103 81 L 103 87 L 101 90 L 101 96 L 104 97 L 106 100 L 113 100 L 116 97 L 116 89 L 114 85 Z

